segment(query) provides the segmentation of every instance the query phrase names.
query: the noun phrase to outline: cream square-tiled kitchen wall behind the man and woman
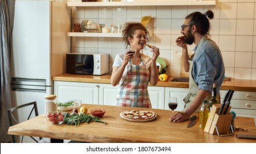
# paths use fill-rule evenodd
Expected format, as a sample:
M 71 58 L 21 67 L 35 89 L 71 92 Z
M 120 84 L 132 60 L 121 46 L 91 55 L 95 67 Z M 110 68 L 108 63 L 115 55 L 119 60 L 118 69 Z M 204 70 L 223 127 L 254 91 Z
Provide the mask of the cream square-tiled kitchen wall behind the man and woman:
M 215 13 L 210 20 L 211 38 L 220 47 L 226 76 L 235 79 L 256 80 L 256 1 L 254 0 L 217 0 L 216 6 L 134 6 L 134 7 L 74 7 L 72 24 L 83 19 L 94 23 L 124 24 L 150 16 L 154 26 L 153 37 L 149 44 L 160 48 L 160 56 L 169 66 L 170 76 L 180 76 L 181 48 L 176 46 L 181 25 L 187 14 L 201 13 L 211 9 Z M 73 31 L 73 30 L 72 30 Z M 108 53 L 109 69 L 116 54 L 125 51 L 122 38 L 118 37 L 72 37 L 72 52 Z M 192 53 L 195 45 L 189 46 Z M 150 55 L 150 50 L 143 53 Z

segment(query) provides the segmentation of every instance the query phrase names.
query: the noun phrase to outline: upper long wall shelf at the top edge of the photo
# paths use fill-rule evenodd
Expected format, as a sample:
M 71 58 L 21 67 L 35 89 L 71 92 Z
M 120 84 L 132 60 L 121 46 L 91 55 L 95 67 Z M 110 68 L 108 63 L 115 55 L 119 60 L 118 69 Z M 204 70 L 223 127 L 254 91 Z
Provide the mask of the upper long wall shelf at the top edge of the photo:
M 165 2 L 67 2 L 68 7 L 118 7 L 160 5 L 216 5 L 216 1 L 165 1 Z

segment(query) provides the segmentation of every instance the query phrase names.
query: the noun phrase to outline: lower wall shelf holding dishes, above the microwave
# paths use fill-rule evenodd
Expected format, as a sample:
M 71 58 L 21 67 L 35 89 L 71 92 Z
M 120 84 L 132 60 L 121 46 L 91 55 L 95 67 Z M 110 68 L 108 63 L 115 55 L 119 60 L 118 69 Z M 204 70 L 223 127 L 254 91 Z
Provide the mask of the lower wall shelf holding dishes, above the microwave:
M 67 36 L 75 37 L 122 37 L 121 33 L 103 32 L 67 32 Z

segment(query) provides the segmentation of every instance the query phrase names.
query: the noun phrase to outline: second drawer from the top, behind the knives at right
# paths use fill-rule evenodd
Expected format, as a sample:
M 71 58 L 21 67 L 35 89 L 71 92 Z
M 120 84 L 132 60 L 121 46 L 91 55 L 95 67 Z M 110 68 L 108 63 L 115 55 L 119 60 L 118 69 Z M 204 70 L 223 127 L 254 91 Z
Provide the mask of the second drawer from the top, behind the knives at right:
M 248 101 L 248 100 L 231 100 L 230 106 L 232 108 L 240 108 L 240 109 L 256 109 L 256 101 Z M 256 112 L 256 110 L 255 110 Z

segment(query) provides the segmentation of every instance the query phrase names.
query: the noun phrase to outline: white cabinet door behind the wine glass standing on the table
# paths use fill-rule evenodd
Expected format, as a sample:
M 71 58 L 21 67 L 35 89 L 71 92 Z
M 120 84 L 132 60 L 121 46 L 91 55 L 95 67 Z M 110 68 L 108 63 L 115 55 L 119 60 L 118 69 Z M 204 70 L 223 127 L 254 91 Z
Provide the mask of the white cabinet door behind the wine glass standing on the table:
M 178 106 L 175 111 L 181 111 L 184 108 L 183 98 L 189 94 L 188 88 L 179 88 L 179 87 L 165 87 L 165 108 L 170 109 L 168 107 L 169 97 L 177 97 Z

